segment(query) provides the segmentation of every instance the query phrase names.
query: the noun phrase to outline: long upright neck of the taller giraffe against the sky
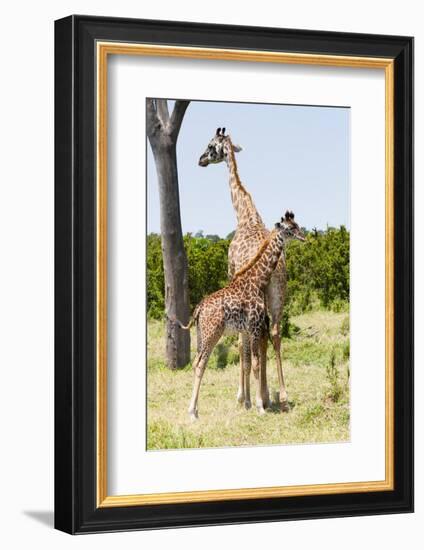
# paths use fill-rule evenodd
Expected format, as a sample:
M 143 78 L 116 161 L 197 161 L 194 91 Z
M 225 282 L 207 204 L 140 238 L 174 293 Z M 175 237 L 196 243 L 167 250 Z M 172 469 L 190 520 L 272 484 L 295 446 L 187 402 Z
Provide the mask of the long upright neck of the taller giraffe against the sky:
M 225 159 L 227 162 L 228 170 L 230 172 L 230 189 L 231 200 L 234 210 L 237 215 L 237 224 L 246 226 L 264 226 L 262 218 L 260 217 L 255 205 L 253 204 L 252 197 L 248 193 L 240 181 L 237 170 L 237 162 L 234 155 L 233 144 L 230 138 L 227 138 L 225 142 Z

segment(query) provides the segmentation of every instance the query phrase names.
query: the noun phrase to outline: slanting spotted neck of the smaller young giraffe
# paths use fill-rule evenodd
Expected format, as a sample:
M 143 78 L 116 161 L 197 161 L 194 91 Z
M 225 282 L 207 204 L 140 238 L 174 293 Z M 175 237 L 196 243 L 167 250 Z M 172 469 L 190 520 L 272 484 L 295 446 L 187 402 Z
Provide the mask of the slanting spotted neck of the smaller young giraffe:
M 236 273 L 235 279 L 243 277 L 258 288 L 264 288 L 277 267 L 283 248 L 284 235 L 282 231 L 274 229 L 256 256 Z

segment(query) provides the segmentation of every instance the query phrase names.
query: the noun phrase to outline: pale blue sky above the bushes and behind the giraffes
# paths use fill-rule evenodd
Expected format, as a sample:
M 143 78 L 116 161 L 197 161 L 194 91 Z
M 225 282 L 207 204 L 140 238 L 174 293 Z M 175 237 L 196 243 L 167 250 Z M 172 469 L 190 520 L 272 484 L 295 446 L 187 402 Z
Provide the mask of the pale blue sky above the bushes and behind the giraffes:
M 218 126 L 243 147 L 236 154 L 240 179 L 267 227 L 291 209 L 308 229 L 349 228 L 350 109 L 192 101 L 177 143 L 184 233 L 226 236 L 235 229 L 226 164 L 198 166 Z M 148 231 L 159 233 L 150 144 L 147 153 Z

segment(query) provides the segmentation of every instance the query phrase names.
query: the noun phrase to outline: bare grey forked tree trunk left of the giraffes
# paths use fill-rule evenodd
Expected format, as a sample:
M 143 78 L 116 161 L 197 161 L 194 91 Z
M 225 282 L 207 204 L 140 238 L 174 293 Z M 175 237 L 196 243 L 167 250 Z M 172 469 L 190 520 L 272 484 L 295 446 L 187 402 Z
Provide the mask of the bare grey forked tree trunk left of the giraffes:
M 147 133 L 156 164 L 160 199 L 162 256 L 165 274 L 166 357 L 170 369 L 190 361 L 190 332 L 172 320 L 187 324 L 190 316 L 188 295 L 188 263 L 181 227 L 176 142 L 187 102 L 177 102 L 169 117 L 167 105 L 157 100 L 148 104 Z M 178 103 L 187 103 L 178 107 Z M 156 109 L 152 110 L 152 107 Z M 150 118 L 149 118 L 149 108 Z M 174 115 L 179 120 L 175 121 Z M 176 111 L 177 109 L 177 111 Z M 177 112 L 177 115 L 175 114 Z M 176 128 L 175 124 L 178 124 Z

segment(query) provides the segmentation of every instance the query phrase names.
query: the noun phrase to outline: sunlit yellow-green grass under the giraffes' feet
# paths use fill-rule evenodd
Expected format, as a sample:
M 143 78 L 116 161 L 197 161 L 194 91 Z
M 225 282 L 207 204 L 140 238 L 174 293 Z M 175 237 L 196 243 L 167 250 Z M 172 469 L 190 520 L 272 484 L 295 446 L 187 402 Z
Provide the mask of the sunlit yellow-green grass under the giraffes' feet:
M 349 316 L 315 311 L 291 318 L 297 327 L 283 339 L 283 369 L 290 412 L 274 404 L 265 415 L 236 400 L 237 336 L 221 339 L 209 360 L 199 396 L 199 420 L 187 414 L 191 366 L 170 371 L 165 364 L 163 324 L 148 324 L 147 448 L 184 449 L 323 443 L 349 440 Z M 192 357 L 196 344 L 192 332 Z M 275 356 L 268 348 L 270 395 L 278 391 Z M 252 376 L 254 402 L 255 381 Z

